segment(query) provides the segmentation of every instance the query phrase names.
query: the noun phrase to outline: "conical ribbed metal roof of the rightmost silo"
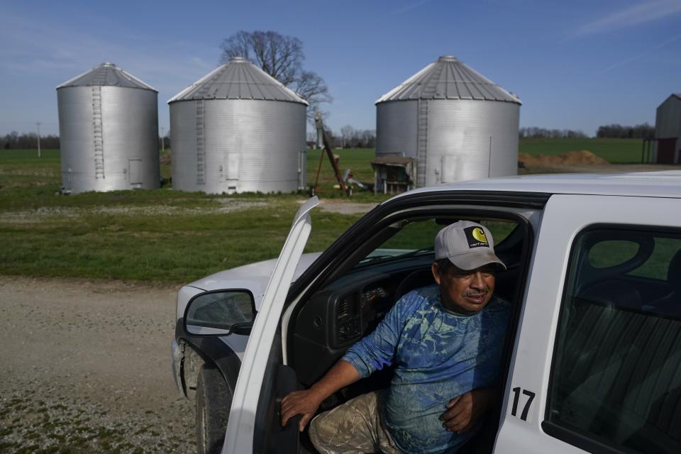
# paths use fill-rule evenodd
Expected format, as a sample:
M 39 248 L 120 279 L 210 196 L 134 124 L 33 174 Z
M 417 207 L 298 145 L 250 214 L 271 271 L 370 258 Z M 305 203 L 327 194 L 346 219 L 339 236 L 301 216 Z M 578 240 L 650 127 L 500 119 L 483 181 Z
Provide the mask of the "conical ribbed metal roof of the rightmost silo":
M 444 55 L 424 67 L 377 99 L 376 104 L 409 99 L 481 99 L 522 104 L 518 96 L 506 92 L 451 55 Z

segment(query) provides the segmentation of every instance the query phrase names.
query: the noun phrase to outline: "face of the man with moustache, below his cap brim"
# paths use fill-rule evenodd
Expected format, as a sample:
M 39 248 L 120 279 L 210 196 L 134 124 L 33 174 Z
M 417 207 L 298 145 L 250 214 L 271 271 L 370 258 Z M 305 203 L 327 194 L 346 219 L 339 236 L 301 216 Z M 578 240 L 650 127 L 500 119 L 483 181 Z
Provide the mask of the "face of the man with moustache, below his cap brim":
M 451 266 L 443 271 L 438 262 L 433 263 L 433 276 L 440 286 L 442 305 L 467 315 L 476 314 L 489 303 L 497 279 L 494 265 L 471 271 Z

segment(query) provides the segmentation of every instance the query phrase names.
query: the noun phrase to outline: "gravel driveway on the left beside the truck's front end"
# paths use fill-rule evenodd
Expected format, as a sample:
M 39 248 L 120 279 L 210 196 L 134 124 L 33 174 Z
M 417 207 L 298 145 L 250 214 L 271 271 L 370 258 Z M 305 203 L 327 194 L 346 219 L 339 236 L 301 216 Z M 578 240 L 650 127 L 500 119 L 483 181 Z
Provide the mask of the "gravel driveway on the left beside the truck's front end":
M 0 276 L 0 453 L 194 453 L 175 291 Z

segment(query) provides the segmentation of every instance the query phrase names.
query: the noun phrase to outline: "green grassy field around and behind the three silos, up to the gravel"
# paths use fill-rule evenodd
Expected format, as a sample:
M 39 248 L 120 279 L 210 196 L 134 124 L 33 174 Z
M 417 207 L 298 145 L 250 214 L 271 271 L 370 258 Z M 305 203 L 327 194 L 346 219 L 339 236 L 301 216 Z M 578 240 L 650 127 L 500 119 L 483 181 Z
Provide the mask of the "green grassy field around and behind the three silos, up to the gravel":
M 522 140 L 521 152 L 590 150 L 611 162 L 640 162 L 641 141 Z M 341 172 L 372 182 L 372 149 L 333 150 Z M 274 258 L 307 194 L 207 195 L 162 189 L 59 196 L 58 150 L 0 150 L 0 274 L 136 279 L 183 284 L 257 260 Z M 162 156 L 163 157 L 163 156 Z M 169 152 L 161 176 L 170 178 Z M 308 150 L 314 183 L 320 150 Z M 163 159 L 162 159 L 163 161 Z M 622 169 L 626 170 L 626 169 Z M 554 170 L 555 171 L 555 170 Z M 323 155 L 322 199 L 342 199 Z M 352 201 L 376 204 L 387 196 L 358 192 Z M 341 200 L 337 200 L 341 203 Z M 361 214 L 312 212 L 306 251 L 326 248 Z

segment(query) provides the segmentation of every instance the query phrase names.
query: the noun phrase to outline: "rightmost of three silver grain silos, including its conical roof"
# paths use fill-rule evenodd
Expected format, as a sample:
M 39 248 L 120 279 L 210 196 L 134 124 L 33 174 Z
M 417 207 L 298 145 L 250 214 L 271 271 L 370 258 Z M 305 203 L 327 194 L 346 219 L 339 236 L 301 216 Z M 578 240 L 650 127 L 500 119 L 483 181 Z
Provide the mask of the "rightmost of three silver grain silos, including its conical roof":
M 376 101 L 376 187 L 389 191 L 394 163 L 383 161 L 394 157 L 415 161 L 408 186 L 516 175 L 520 105 L 455 57 L 440 57 Z

